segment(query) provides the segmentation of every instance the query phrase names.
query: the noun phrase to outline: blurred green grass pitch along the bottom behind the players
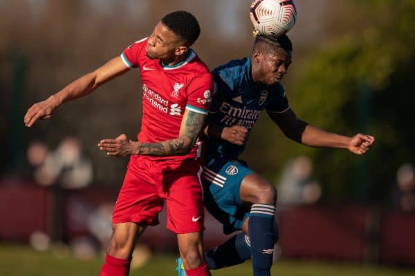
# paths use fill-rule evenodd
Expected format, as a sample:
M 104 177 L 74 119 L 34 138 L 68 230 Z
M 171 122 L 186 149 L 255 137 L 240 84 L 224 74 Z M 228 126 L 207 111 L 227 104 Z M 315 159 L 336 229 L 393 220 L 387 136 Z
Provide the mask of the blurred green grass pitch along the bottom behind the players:
M 88 261 L 76 259 L 64 248 L 37 252 L 28 246 L 0 244 L 0 275 L 10 276 L 91 276 L 98 275 L 104 257 Z M 142 268 L 132 270 L 131 276 L 176 275 L 176 256 L 154 255 Z M 250 262 L 212 270 L 213 275 L 252 275 Z M 385 268 L 323 262 L 277 261 L 272 275 L 278 276 L 413 276 L 415 269 Z

